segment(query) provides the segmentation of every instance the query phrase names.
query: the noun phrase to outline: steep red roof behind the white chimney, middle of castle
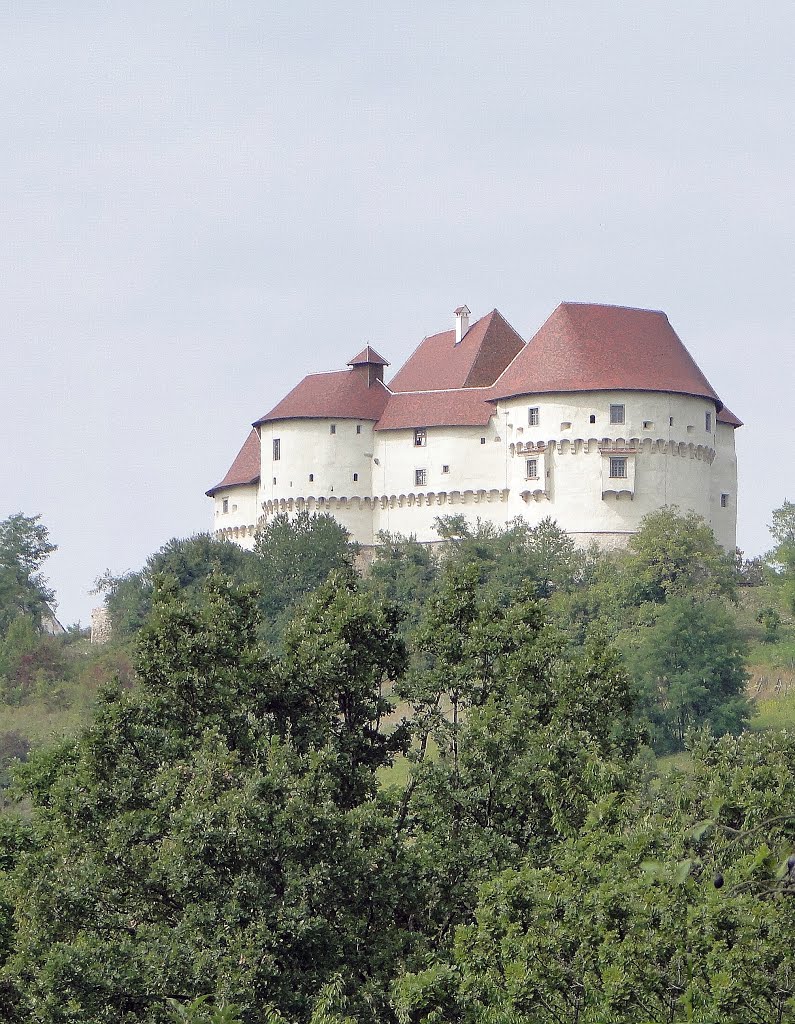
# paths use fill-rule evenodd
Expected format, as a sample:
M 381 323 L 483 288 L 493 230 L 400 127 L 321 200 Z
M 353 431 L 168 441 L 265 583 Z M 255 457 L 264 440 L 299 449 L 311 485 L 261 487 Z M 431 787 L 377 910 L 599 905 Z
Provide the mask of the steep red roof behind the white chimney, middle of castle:
M 389 381 L 389 389 L 489 387 L 524 347 L 522 339 L 494 309 L 476 321 L 458 344 L 455 331 L 425 338 Z

